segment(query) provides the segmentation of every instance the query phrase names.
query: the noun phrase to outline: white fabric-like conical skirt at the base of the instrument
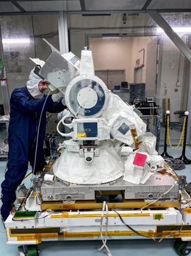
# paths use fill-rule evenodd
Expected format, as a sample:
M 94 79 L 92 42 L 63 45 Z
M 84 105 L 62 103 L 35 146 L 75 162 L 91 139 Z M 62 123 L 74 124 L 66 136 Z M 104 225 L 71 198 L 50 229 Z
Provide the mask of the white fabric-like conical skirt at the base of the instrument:
M 99 146 L 99 156 L 93 162 L 85 162 L 79 153 L 62 151 L 53 166 L 54 174 L 74 184 L 102 184 L 123 176 L 124 164 L 115 148 L 110 144 Z

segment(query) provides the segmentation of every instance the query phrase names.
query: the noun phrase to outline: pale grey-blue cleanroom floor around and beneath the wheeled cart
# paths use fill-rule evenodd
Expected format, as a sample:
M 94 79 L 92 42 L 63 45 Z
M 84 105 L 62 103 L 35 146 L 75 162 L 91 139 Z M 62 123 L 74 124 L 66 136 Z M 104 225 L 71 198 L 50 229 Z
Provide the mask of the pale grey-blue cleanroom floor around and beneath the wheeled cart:
M 159 148 L 159 153 L 162 153 L 163 148 Z M 173 151 L 168 148 L 167 152 L 174 157 L 181 156 L 181 148 Z M 191 148 L 187 147 L 186 155 L 188 159 L 191 159 Z M 0 162 L 0 183 L 4 179 L 4 170 L 6 162 Z M 191 165 L 187 165 L 184 170 L 177 171 L 179 175 L 186 175 L 187 181 L 191 181 Z M 1 201 L 0 201 L 1 206 Z M 120 241 L 107 241 L 107 246 L 112 252 L 112 255 L 176 255 L 173 249 L 173 239 L 166 239 L 162 242 L 152 240 L 120 240 Z M 101 241 L 63 241 L 63 242 L 44 242 L 41 243 L 38 248 L 40 249 L 41 256 L 48 255 L 104 255 L 103 252 L 97 252 L 97 249 L 101 246 Z M 3 224 L 0 221 L 0 248 L 1 255 L 18 255 L 18 246 L 6 244 L 6 234 L 4 232 Z

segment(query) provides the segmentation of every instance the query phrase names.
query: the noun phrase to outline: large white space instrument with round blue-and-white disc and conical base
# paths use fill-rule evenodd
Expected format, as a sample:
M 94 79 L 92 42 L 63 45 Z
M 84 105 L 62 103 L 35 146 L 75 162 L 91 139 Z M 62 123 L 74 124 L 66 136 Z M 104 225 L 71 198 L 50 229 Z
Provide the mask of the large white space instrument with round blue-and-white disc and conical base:
M 124 103 L 95 76 L 92 52 L 82 50 L 80 61 L 71 52 L 60 55 L 53 51 L 40 75 L 51 83 L 52 90 L 65 94 L 71 112 L 57 125 L 57 131 L 71 139 L 62 145 L 54 174 L 75 184 L 102 184 L 124 176 L 118 145 L 139 148 L 146 125 L 134 106 Z M 73 117 L 71 123 L 69 117 Z M 62 133 L 61 123 L 71 132 Z

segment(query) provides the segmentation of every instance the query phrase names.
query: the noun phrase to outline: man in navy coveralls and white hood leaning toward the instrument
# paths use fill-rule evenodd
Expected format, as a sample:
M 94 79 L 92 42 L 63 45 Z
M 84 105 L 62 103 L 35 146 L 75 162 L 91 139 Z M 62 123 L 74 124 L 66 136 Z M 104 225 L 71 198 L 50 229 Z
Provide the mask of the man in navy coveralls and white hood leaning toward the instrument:
M 49 96 L 44 94 L 47 86 L 47 80 L 42 80 L 32 71 L 26 86 L 14 89 L 10 97 L 9 154 L 7 172 L 1 184 L 3 221 L 10 215 L 15 191 L 26 175 L 28 163 L 35 174 L 46 165 L 43 154 L 46 111 L 59 113 L 66 108 L 61 92 Z

